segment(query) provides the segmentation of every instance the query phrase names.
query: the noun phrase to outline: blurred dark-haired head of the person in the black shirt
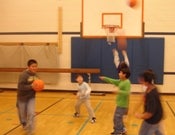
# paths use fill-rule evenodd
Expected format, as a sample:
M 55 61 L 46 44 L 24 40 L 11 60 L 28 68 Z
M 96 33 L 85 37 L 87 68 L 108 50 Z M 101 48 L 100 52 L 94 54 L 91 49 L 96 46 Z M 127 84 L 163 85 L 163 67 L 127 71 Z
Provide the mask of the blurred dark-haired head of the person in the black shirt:
M 145 70 L 143 73 L 139 75 L 139 83 L 145 84 L 149 83 L 152 84 L 155 81 L 155 74 L 151 69 Z

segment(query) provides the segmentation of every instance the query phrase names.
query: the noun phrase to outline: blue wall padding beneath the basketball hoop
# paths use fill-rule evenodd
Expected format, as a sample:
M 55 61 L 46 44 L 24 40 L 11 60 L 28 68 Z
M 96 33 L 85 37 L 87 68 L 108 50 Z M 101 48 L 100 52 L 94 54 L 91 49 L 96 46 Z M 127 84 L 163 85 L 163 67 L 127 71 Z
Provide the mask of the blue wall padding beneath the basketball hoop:
M 138 83 L 138 74 L 150 68 L 157 76 L 156 83 L 163 84 L 164 38 L 141 38 L 127 40 L 127 53 L 130 61 L 132 83 Z M 117 43 L 108 45 L 106 39 L 71 39 L 71 68 L 100 68 L 100 74 L 92 74 L 91 82 L 99 83 L 99 75 L 118 78 L 113 62 L 112 49 Z M 119 52 L 121 60 L 123 57 Z M 88 76 L 85 77 L 88 80 Z M 75 74 L 71 81 L 75 82 Z

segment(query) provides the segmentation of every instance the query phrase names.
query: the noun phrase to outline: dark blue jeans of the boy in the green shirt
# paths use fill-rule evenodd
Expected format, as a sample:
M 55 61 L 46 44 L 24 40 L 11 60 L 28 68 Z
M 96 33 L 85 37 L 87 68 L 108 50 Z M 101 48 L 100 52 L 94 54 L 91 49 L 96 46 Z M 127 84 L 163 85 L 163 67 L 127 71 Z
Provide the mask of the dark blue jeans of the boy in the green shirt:
M 116 107 L 114 113 L 114 134 L 118 134 L 124 131 L 123 116 L 128 112 L 128 108 Z

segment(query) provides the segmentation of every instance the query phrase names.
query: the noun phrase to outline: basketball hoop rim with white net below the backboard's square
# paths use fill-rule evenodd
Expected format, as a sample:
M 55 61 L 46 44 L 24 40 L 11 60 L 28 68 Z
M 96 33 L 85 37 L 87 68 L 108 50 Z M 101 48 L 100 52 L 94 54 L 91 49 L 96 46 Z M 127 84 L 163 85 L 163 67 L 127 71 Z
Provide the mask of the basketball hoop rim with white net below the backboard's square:
M 115 36 L 117 35 L 118 25 L 104 25 L 103 29 L 106 32 L 107 42 L 109 45 L 115 43 Z

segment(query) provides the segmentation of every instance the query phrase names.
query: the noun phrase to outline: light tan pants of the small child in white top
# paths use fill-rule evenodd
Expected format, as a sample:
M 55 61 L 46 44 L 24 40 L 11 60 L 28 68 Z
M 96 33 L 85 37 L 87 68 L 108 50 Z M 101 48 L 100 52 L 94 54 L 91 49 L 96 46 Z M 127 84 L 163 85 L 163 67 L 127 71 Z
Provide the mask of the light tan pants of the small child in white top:
M 75 105 L 75 111 L 80 114 L 80 107 L 82 104 L 85 104 L 86 109 L 88 111 L 89 117 L 93 118 L 95 117 L 94 111 L 91 107 L 90 99 L 85 98 L 85 99 L 78 99 Z

